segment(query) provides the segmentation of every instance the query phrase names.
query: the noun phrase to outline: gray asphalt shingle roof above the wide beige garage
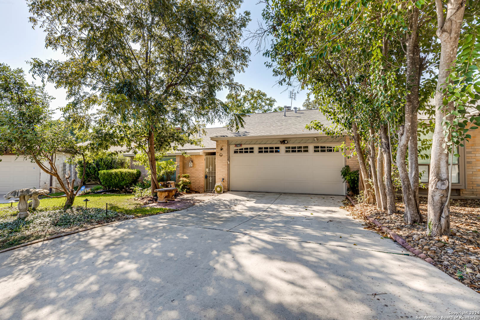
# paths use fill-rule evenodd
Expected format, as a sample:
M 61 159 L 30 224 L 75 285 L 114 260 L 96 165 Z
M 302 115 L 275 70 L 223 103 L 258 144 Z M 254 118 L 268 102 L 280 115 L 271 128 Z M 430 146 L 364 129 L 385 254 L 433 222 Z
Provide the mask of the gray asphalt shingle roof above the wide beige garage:
M 210 140 L 211 137 L 255 137 L 280 134 L 307 134 L 319 133 L 318 131 L 310 131 L 305 129 L 305 125 L 312 120 L 319 120 L 326 126 L 332 123 L 318 110 L 299 110 L 287 111 L 287 117 L 281 112 L 255 113 L 244 118 L 244 128 L 240 128 L 239 132 L 232 132 L 227 128 L 207 128 L 206 134 L 202 135 L 204 147 L 187 144 L 180 147 L 180 150 L 198 150 L 198 149 L 215 149 L 216 142 Z

